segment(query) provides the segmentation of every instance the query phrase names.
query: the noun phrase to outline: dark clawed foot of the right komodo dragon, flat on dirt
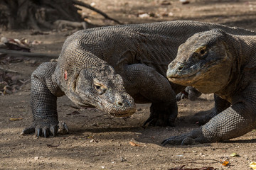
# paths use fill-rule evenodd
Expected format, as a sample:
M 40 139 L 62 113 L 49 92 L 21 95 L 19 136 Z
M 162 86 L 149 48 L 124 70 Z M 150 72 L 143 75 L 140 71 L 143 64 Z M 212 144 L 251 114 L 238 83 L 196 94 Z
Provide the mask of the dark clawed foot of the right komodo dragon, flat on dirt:
M 208 142 L 208 140 L 206 140 L 206 137 L 203 136 L 201 128 L 199 128 L 186 134 L 170 137 L 161 142 L 161 145 L 196 145 L 198 143 L 206 142 Z

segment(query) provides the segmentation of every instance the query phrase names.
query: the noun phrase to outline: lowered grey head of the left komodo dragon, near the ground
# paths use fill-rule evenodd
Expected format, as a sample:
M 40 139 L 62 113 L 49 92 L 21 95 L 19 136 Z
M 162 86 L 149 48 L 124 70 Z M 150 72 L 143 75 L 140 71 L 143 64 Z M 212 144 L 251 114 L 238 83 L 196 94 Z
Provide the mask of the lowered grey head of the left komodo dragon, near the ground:
M 117 117 L 127 117 L 136 111 L 132 96 L 124 89 L 122 77 L 115 72 L 82 69 L 66 95 L 78 106 L 94 106 Z

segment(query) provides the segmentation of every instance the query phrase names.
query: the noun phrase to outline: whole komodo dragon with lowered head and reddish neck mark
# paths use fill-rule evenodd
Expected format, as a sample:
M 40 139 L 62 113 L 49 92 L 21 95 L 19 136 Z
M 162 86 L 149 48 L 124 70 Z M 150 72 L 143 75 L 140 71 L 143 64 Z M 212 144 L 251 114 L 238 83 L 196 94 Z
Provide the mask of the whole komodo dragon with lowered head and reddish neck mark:
M 173 21 L 80 30 L 63 45 L 58 62 L 41 64 L 31 76 L 33 124 L 23 134 L 56 135 L 57 97 L 95 106 L 116 116 L 131 115 L 136 103 L 151 103 L 146 123 L 171 125 L 176 94 L 183 86 L 166 79 L 178 46 L 194 33 L 220 28 L 238 35 L 250 30 L 213 23 Z

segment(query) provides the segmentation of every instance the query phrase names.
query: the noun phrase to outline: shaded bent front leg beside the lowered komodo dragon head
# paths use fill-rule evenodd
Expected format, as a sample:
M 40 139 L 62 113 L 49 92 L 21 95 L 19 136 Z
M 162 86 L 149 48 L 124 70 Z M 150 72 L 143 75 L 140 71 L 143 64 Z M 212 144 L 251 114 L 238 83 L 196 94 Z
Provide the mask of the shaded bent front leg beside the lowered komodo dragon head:
M 174 125 L 178 114 L 176 94 L 164 76 L 145 64 L 130 64 L 124 67 L 122 77 L 135 103 L 151 103 L 150 117 L 144 125 Z

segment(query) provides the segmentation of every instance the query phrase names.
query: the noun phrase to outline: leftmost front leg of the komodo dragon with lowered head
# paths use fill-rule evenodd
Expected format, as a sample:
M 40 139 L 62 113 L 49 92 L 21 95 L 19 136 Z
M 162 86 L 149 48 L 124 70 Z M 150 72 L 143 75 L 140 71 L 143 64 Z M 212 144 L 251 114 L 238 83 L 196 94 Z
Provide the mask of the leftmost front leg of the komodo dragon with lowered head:
M 22 134 L 35 132 L 39 137 L 55 136 L 58 131 L 57 97 L 63 91 L 57 86 L 53 73 L 57 62 L 45 62 L 31 75 L 31 108 L 33 124 L 23 130 Z M 68 127 L 64 124 L 66 130 Z

